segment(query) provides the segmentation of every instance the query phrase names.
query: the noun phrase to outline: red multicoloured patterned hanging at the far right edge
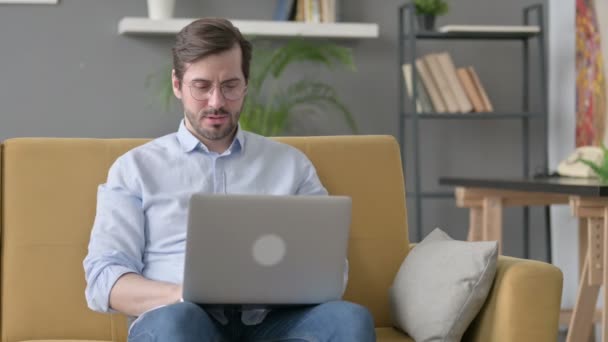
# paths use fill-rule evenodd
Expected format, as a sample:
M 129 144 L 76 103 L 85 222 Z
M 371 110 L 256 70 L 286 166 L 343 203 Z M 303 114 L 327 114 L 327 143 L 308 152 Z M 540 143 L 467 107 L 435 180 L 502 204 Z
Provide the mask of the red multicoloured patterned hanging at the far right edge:
M 594 0 L 576 0 L 577 147 L 598 146 L 604 139 L 606 128 L 604 75 L 601 35 Z

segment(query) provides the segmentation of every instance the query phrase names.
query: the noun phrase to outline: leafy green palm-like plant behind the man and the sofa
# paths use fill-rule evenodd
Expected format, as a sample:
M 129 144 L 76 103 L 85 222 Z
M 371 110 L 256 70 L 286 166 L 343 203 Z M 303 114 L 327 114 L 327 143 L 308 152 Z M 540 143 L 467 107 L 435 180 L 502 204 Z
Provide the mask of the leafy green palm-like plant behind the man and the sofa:
M 264 136 L 285 134 L 296 112 L 322 111 L 328 115 L 342 115 L 351 130 L 357 132 L 352 114 L 329 84 L 301 78 L 286 85 L 281 80 L 288 66 L 298 63 L 312 63 L 328 69 L 342 66 L 354 71 L 351 49 L 304 39 L 292 39 L 274 48 L 260 41 L 254 41 L 254 45 L 247 97 L 239 120 L 243 129 Z M 147 87 L 159 87 L 158 94 L 166 110 L 173 99 L 170 74 L 164 67 L 146 81 Z

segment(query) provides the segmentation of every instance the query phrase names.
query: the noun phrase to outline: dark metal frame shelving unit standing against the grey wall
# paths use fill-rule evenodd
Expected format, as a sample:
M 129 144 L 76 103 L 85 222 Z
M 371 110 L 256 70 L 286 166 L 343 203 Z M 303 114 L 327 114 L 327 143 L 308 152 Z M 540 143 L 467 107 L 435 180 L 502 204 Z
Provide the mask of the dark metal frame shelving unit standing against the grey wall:
M 543 7 L 541 4 L 532 5 L 523 9 L 523 25 L 531 25 L 534 21 L 540 30 L 539 32 L 428 32 L 417 31 L 415 23 L 415 7 L 412 2 L 407 3 L 399 8 L 399 70 L 404 63 L 411 63 L 418 57 L 416 44 L 420 40 L 485 40 L 485 41 L 520 41 L 522 44 L 523 58 L 523 98 L 522 111 L 520 112 L 492 112 L 492 113 L 418 113 L 416 111 L 415 101 L 409 101 L 409 106 L 406 108 L 404 99 L 405 82 L 403 77 L 399 78 L 399 143 L 401 146 L 403 169 L 406 167 L 409 172 L 413 172 L 414 184 L 408 186 L 409 192 L 407 197 L 413 200 L 415 205 L 416 217 L 416 235 L 417 239 L 422 238 L 422 205 L 423 199 L 438 199 L 438 198 L 453 198 L 452 193 L 446 192 L 427 192 L 421 188 L 421 167 L 420 167 L 420 121 L 421 120 L 519 120 L 521 121 L 522 129 L 522 176 L 530 175 L 530 120 L 542 120 L 542 129 L 544 134 L 543 148 L 543 171 L 547 172 L 548 165 L 548 146 L 547 146 L 547 80 L 546 80 L 546 59 L 545 59 L 545 43 L 544 43 L 544 22 L 543 22 Z M 534 19 L 534 20 L 533 20 Z M 538 110 L 530 110 L 530 43 L 536 40 L 538 43 L 538 62 L 535 65 L 534 72 L 540 79 L 539 94 L 541 96 L 541 105 Z M 401 74 L 401 72 L 399 73 Z M 412 72 L 412 83 L 419 82 L 417 72 Z M 412 89 L 412 98 L 416 98 L 416 87 Z M 412 134 L 408 136 L 406 141 L 406 126 L 411 125 Z M 413 144 L 413 156 L 411 160 L 405 159 L 406 144 Z M 411 165 L 410 165 L 411 164 Z M 412 201 L 408 201 L 411 203 Z M 528 234 L 529 234 L 529 208 L 524 208 L 524 253 L 528 256 Z M 550 221 L 549 209 L 545 208 L 545 221 L 548 234 L 548 253 L 550 255 Z

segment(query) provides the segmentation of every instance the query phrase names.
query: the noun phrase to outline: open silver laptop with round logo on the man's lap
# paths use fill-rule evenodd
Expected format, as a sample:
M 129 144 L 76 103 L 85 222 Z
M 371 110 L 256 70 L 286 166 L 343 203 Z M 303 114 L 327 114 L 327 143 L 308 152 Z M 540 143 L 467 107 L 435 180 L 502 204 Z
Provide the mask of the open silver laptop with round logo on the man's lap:
M 195 194 L 183 298 L 201 304 L 316 304 L 343 292 L 345 196 Z

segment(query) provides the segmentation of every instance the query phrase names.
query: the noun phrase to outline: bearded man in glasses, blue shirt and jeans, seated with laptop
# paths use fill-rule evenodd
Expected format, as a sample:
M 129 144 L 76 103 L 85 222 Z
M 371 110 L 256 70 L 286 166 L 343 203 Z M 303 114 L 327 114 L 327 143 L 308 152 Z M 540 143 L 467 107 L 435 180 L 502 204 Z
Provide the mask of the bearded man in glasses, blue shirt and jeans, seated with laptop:
M 184 120 L 118 158 L 99 187 L 84 260 L 89 307 L 137 317 L 129 341 L 374 341 L 370 313 L 345 301 L 275 310 L 181 301 L 193 193 L 327 194 L 304 154 L 239 129 L 250 60 L 251 44 L 227 20 L 177 35 L 172 85 Z

